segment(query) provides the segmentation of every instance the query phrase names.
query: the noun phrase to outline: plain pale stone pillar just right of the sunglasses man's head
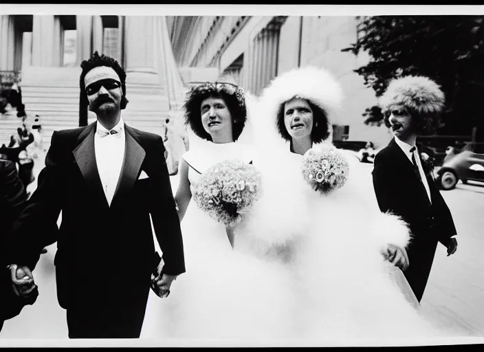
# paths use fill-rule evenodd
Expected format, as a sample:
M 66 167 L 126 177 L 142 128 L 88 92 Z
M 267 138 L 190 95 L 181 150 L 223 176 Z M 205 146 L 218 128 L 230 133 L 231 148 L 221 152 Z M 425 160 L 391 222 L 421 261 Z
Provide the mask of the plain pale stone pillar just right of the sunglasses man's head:
M 126 72 L 148 72 L 155 74 L 153 50 L 153 17 L 125 17 L 124 66 Z

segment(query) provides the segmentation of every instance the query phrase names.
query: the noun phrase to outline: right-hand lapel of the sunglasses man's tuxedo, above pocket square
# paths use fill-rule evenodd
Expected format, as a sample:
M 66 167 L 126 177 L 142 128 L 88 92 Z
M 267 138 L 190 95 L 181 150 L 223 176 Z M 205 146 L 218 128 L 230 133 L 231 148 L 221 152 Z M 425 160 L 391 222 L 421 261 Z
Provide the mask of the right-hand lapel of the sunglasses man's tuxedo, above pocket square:
M 131 127 L 124 124 L 126 131 L 126 146 L 124 148 L 124 160 L 121 169 L 120 179 L 118 186 L 114 192 L 113 201 L 111 202 L 111 208 L 122 199 L 127 191 L 133 187 L 137 176 L 140 173 L 140 168 L 143 164 L 146 152 L 138 143 L 137 133 Z

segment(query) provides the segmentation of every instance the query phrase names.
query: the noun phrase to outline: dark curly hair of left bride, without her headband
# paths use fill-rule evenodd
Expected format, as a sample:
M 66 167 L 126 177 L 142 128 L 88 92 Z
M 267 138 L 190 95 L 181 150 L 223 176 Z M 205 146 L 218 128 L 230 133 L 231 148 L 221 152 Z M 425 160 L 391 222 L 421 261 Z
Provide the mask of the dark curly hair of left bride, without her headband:
M 215 91 L 212 89 L 205 89 L 203 92 L 191 94 L 184 104 L 186 124 L 190 124 L 190 128 L 197 136 L 204 140 L 212 141 L 212 136 L 203 129 L 203 124 L 201 123 L 201 102 L 207 98 L 221 98 L 227 104 L 227 109 L 232 117 L 232 138 L 236 141 L 241 135 L 247 120 L 245 104 L 240 104 L 236 94 L 228 94 L 223 90 Z

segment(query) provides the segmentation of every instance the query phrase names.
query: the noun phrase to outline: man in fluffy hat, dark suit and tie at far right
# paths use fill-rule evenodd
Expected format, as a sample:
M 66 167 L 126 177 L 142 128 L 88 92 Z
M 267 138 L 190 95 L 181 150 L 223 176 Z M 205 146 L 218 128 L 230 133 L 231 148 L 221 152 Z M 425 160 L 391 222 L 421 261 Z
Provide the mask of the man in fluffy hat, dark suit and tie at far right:
M 420 302 L 437 243 L 445 245 L 448 256 L 457 249 L 452 215 L 415 144 L 417 134 L 437 126 L 444 96 L 429 78 L 407 76 L 388 85 L 380 106 L 394 138 L 375 157 L 373 188 L 380 210 L 399 215 L 409 225 L 412 238 L 404 275 Z

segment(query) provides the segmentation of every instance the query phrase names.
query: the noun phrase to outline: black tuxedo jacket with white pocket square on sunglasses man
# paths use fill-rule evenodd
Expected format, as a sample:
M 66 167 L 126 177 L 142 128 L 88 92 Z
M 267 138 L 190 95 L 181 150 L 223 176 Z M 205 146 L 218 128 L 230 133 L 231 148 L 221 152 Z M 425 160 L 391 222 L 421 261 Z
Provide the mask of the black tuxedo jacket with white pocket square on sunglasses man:
M 10 263 L 32 266 L 52 242 L 52 232 L 43 230 L 56 223 L 62 210 L 54 259 L 61 307 L 69 307 L 72 299 L 77 307 L 88 296 L 97 299 L 100 287 L 115 289 L 120 303 L 129 287 L 149 287 L 155 265 L 150 214 L 164 272 L 185 272 L 162 137 L 127 125 L 125 131 L 124 164 L 111 206 L 96 165 L 93 123 L 54 132 L 39 186 L 14 223 Z M 142 170 L 148 179 L 138 179 Z

